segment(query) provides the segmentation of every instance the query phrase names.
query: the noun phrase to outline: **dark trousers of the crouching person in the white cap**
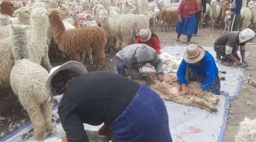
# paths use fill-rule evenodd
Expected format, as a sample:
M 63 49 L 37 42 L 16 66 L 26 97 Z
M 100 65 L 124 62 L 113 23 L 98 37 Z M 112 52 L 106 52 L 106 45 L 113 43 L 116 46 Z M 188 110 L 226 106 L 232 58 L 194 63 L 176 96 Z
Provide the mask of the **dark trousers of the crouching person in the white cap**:
M 241 61 L 240 57 L 237 54 L 237 50 L 238 50 L 238 46 L 234 46 L 234 48 L 232 49 L 232 55 L 238 60 Z M 228 61 L 231 62 L 232 60 L 230 58 L 228 58 L 228 56 L 226 56 L 226 46 L 224 45 L 214 45 L 214 51 L 216 52 L 216 58 L 218 60 L 220 60 L 221 56 L 223 56 L 223 58 L 221 59 L 222 61 Z

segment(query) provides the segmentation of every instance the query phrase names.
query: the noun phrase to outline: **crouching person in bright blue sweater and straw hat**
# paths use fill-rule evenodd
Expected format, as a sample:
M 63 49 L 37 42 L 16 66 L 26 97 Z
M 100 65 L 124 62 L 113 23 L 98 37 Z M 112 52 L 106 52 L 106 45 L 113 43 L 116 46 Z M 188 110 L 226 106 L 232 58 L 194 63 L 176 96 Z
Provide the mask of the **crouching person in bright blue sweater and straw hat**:
M 194 80 L 201 82 L 201 85 L 192 91 L 193 94 L 200 94 L 203 91 L 220 94 L 220 78 L 214 57 L 195 44 L 187 46 L 187 51 L 177 72 L 177 78 L 183 92 L 190 92 L 187 82 Z

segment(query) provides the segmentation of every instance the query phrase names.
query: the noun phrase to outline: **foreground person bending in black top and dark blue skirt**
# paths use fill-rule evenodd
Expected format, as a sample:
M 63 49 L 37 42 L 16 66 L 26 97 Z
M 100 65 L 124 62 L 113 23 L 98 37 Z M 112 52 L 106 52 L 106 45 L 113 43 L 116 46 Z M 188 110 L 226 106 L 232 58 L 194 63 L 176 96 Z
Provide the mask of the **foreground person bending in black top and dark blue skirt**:
M 104 123 L 99 133 L 110 130 L 113 142 L 172 141 L 166 106 L 144 84 L 113 72 L 87 73 L 84 65 L 70 61 L 51 70 L 45 90 L 64 93 L 58 108 L 67 135 L 63 141 L 89 141 L 83 123 Z

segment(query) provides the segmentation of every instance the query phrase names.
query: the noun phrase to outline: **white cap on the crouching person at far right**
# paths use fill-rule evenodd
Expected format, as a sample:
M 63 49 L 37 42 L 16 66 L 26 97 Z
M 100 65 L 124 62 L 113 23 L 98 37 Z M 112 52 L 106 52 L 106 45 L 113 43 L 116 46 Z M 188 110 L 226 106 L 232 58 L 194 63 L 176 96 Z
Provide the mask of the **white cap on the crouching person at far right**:
M 239 33 L 239 44 L 242 42 L 250 42 L 253 43 L 253 37 L 255 36 L 255 33 L 253 30 L 246 28 L 241 33 Z

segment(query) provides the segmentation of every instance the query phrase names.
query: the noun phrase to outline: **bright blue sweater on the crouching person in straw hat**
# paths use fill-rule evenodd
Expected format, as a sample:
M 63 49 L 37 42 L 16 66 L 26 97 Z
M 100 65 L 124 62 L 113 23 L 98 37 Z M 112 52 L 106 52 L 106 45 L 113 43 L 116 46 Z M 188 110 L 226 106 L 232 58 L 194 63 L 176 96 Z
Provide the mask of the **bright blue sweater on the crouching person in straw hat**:
M 187 80 L 185 79 L 186 66 L 187 63 L 183 59 L 177 72 L 177 77 L 180 84 L 187 84 Z M 194 70 L 201 76 L 205 77 L 205 80 L 203 80 L 203 82 L 200 85 L 200 88 L 204 91 L 210 88 L 210 86 L 212 86 L 215 76 L 218 75 L 218 68 L 214 61 L 214 57 L 209 52 L 205 52 L 205 56 L 197 66 L 189 64 L 189 68 L 191 68 L 191 70 Z

